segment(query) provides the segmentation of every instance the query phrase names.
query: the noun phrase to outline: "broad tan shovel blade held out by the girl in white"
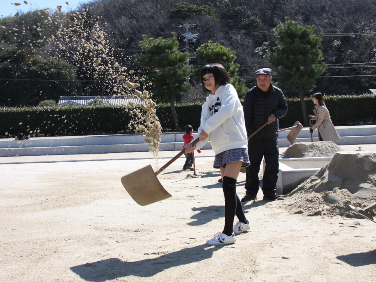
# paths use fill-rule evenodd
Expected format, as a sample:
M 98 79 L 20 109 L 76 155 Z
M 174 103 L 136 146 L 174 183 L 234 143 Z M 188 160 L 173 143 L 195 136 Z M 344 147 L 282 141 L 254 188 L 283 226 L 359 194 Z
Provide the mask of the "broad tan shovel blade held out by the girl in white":
M 141 206 L 171 197 L 159 182 L 151 165 L 121 177 L 125 190 Z

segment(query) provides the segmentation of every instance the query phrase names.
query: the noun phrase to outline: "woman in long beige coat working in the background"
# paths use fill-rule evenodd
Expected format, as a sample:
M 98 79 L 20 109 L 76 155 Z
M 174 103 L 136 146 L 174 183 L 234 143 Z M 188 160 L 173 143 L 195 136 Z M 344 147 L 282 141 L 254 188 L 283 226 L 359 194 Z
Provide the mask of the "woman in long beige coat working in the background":
M 319 141 L 336 141 L 340 139 L 340 135 L 335 130 L 329 111 L 326 108 L 323 94 L 320 92 L 313 94 L 312 102 L 315 104 L 315 109 L 313 110 L 315 115 L 309 115 L 308 118 L 316 120 L 316 123 L 309 129 L 309 132 L 312 133 L 317 128 L 321 135 Z

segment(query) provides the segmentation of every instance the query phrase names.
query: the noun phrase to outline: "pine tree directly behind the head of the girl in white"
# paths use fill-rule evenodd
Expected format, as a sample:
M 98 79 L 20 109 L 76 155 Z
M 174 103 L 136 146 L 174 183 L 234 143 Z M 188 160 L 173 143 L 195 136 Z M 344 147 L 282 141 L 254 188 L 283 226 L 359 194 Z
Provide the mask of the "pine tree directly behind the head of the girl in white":
M 232 76 L 232 84 L 238 92 L 239 98 L 244 97 L 247 88 L 244 80 L 240 79 L 240 77 L 238 77 L 236 74 L 239 69 L 239 64 L 234 62 L 237 58 L 235 51 L 219 44 L 218 42 L 209 41 L 197 48 L 196 58 L 200 64 L 222 64 L 223 67 L 226 68 L 227 72 Z M 196 72 L 198 76 L 199 70 Z

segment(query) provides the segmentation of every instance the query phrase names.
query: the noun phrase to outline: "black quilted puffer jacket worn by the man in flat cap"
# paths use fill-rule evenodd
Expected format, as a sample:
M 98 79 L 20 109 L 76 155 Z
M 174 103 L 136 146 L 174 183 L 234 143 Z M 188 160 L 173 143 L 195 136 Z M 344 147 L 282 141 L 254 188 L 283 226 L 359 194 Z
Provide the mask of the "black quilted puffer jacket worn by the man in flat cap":
M 270 114 L 274 114 L 277 119 L 252 138 L 264 140 L 278 138 L 278 118 L 284 117 L 287 114 L 287 109 L 287 102 L 281 89 L 270 85 L 269 90 L 263 92 L 257 86 L 252 87 L 247 91 L 243 103 L 247 135 L 255 132 L 268 121 Z

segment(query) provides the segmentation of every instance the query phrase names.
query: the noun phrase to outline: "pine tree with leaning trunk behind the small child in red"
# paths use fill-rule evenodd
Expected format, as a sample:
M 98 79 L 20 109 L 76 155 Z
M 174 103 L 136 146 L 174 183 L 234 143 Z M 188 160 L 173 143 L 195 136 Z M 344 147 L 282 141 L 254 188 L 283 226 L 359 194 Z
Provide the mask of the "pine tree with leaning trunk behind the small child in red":
M 144 36 L 140 46 L 144 54 L 137 54 L 136 60 L 149 70 L 148 79 L 155 84 L 158 98 L 170 102 L 175 130 L 178 131 L 180 126 L 175 101 L 177 95 L 191 87 L 186 83 L 191 74 L 190 67 L 186 65 L 189 53 L 179 51 L 176 33 L 166 39 Z

